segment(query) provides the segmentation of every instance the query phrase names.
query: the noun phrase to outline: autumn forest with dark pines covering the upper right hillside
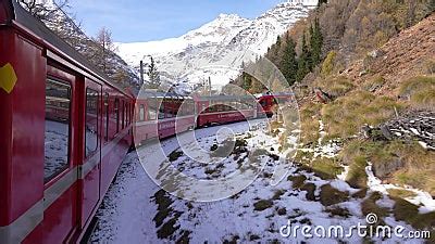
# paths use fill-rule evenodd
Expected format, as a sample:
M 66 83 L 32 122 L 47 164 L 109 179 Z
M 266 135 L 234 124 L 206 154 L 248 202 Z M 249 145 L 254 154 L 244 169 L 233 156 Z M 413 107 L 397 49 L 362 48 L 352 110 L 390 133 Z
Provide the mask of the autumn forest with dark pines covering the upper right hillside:
M 428 16 L 434 0 L 330 0 L 320 1 L 308 18 L 277 37 L 268 53 L 246 70 L 263 69 L 271 61 L 289 86 L 344 70 L 353 61 L 385 44 L 391 37 Z M 254 73 L 254 72 L 253 72 Z M 260 93 L 265 88 L 256 74 L 240 75 L 234 85 Z

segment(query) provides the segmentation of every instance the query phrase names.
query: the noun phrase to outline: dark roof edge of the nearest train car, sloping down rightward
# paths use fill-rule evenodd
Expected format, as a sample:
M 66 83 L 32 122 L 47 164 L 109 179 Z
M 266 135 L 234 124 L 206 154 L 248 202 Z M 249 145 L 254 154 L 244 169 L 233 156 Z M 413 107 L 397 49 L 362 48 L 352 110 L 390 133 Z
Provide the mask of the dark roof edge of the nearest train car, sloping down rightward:
M 133 98 L 133 93 L 130 94 L 130 92 L 127 92 L 121 89 L 117 85 L 109 81 L 110 78 L 104 73 L 90 64 L 85 56 L 83 56 L 58 35 L 55 35 L 40 20 L 33 16 L 17 1 L 2 0 L 0 4 L 2 5 L 1 8 L 4 9 L 8 18 L 0 20 L 1 22 L 5 21 L 5 23 L 0 24 L 17 24 L 18 27 L 24 27 L 24 30 L 30 33 L 30 35 L 39 39 L 37 41 L 41 41 L 42 43 L 51 46 L 48 48 L 50 51 L 62 56 L 63 59 L 66 59 L 69 63 L 78 67 L 82 73 L 85 72 L 88 74 L 87 76 L 94 76 L 95 78 L 104 81 L 107 85 L 124 93 L 125 95 Z M 47 53 L 47 55 L 49 54 L 50 53 Z

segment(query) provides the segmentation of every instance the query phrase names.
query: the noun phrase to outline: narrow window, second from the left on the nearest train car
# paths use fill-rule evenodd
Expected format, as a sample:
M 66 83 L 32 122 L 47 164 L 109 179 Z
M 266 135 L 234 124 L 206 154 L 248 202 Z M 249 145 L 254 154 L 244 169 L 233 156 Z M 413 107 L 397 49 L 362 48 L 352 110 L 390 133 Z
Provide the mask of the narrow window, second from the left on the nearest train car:
M 98 147 L 98 91 L 86 89 L 86 126 L 85 126 L 85 153 L 86 157 Z

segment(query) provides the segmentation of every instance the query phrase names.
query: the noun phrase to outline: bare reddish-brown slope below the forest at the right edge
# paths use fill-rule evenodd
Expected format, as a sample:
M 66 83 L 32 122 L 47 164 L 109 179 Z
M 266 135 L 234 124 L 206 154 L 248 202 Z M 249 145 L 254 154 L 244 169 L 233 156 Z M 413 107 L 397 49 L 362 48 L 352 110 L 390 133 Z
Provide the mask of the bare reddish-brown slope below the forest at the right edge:
M 435 14 L 405 29 L 377 50 L 345 70 L 357 84 L 382 76 L 385 84 L 376 94 L 390 94 L 401 81 L 427 73 L 426 62 L 435 57 Z

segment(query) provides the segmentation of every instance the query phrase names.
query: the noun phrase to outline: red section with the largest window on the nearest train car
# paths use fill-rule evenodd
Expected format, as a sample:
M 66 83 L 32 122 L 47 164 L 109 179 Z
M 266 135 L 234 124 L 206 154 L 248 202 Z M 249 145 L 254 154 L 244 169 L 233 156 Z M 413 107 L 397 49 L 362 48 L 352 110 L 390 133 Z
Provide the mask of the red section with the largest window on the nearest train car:
M 50 64 L 46 78 L 42 243 L 66 240 L 78 228 L 77 77 Z M 62 216 L 62 218 L 59 218 Z

